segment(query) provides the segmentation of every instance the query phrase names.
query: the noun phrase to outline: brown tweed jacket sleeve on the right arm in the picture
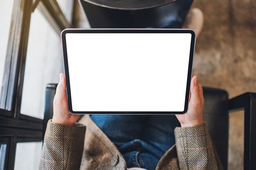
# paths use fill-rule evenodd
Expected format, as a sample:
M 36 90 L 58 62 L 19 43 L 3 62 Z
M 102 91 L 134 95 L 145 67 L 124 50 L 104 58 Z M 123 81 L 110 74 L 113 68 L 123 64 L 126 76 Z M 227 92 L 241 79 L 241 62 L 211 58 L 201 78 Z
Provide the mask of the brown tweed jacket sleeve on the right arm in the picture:
M 206 124 L 175 128 L 178 164 L 181 170 L 218 170 Z

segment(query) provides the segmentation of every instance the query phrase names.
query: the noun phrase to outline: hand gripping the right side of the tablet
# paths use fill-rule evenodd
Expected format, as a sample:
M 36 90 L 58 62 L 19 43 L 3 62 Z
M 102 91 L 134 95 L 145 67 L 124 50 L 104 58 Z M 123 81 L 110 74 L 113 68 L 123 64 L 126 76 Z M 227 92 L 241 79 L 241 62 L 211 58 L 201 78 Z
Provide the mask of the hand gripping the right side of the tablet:
M 176 115 L 182 127 L 196 126 L 203 123 L 204 97 L 202 85 L 198 83 L 198 77 L 191 79 L 189 108 L 185 114 Z

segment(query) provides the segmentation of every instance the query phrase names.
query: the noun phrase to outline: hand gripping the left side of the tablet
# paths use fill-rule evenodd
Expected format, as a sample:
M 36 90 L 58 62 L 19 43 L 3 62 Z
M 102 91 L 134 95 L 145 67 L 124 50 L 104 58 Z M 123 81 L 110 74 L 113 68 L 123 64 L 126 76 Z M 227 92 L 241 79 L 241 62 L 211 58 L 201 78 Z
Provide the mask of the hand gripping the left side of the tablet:
M 66 80 L 63 73 L 60 74 L 60 82 L 58 83 L 56 94 L 53 100 L 53 118 L 52 123 L 60 125 L 74 125 L 80 115 L 72 115 L 68 111 Z

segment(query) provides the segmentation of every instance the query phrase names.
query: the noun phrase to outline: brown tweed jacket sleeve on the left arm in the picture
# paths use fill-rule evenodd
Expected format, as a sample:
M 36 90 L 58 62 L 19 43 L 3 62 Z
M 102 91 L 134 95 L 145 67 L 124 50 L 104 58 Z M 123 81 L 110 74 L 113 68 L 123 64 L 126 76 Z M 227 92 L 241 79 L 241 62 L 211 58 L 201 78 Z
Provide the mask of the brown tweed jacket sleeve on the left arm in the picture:
M 85 126 L 47 123 L 39 170 L 79 170 L 83 154 Z

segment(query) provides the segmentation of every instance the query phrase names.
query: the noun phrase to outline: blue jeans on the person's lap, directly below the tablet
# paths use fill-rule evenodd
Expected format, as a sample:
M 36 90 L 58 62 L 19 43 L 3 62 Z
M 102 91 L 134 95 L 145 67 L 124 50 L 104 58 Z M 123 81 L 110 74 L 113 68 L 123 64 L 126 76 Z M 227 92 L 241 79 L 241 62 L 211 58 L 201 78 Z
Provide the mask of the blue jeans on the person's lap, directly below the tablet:
M 117 146 L 128 168 L 155 170 L 159 159 L 175 144 L 175 115 L 91 115 Z

